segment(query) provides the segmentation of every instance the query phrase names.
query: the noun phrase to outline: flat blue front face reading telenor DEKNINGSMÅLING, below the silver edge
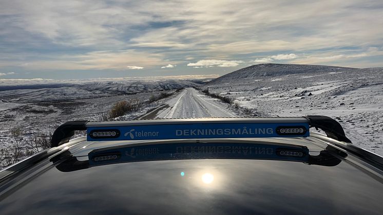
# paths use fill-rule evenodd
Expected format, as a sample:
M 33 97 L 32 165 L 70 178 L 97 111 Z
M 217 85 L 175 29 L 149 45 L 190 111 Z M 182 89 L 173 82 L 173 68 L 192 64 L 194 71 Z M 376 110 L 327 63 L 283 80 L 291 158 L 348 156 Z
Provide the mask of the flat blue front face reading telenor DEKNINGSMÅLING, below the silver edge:
M 308 123 L 199 123 L 89 127 L 88 141 L 307 137 Z

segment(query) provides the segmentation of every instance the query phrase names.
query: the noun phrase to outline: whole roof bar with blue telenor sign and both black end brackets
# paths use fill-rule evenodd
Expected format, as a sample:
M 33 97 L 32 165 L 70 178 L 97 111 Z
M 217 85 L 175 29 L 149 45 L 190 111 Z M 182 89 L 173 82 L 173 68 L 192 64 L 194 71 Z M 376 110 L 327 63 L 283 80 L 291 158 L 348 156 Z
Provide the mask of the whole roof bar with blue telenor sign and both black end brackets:
M 199 130 L 207 130 L 207 129 L 216 129 L 216 130 L 224 130 L 222 126 L 230 125 L 230 128 L 237 131 L 237 129 L 244 128 L 246 130 L 250 128 L 255 129 L 263 129 L 265 126 L 269 126 L 269 129 L 273 129 L 272 134 L 263 135 L 262 133 L 251 133 L 252 135 L 234 135 L 234 133 L 229 133 L 228 135 L 205 135 L 202 138 L 199 136 L 198 138 L 255 138 L 255 137 L 278 137 L 278 136 L 301 136 L 306 137 L 309 136 L 309 127 L 315 127 L 322 129 L 329 138 L 343 141 L 347 143 L 351 143 L 351 141 L 344 134 L 342 126 L 336 122 L 334 119 L 329 118 L 328 116 L 318 116 L 318 115 L 309 115 L 302 116 L 296 118 L 198 118 L 198 119 L 166 119 L 166 120 L 135 120 L 135 121 L 116 121 L 116 122 L 88 122 L 88 121 L 70 121 L 64 123 L 59 126 L 53 133 L 51 139 L 51 147 L 56 147 L 67 143 L 71 136 L 74 135 L 74 131 L 78 130 L 88 130 L 88 140 L 147 140 L 143 138 L 141 135 L 133 136 L 131 131 L 135 130 L 131 126 L 135 126 L 137 128 L 142 128 L 140 126 L 146 126 L 145 128 L 151 128 L 151 131 L 158 129 L 158 125 L 164 128 L 165 132 L 168 134 L 163 135 L 160 139 L 195 139 L 196 135 L 189 135 L 185 133 L 185 135 L 169 135 L 169 130 L 176 131 L 176 129 L 199 129 Z M 292 133 L 288 133 L 287 129 L 293 128 Z M 125 129 L 124 135 L 121 135 L 122 129 Z M 129 130 L 127 130 L 129 129 Z M 281 130 L 283 129 L 283 130 Z M 295 129 L 295 130 L 294 130 Z M 150 130 L 150 129 L 149 129 Z M 180 131 L 180 130 L 178 130 Z M 226 130 L 225 130 L 226 131 Z M 248 130 L 250 131 L 250 130 Z M 275 132 L 274 132 L 275 131 Z M 281 133 L 282 131 L 282 133 Z M 290 130 L 291 131 L 291 130 Z M 98 134 L 101 132 L 100 134 Z M 105 132 L 112 133 L 114 136 L 102 136 L 105 135 Z M 150 132 L 150 131 L 149 131 Z M 92 133 L 94 135 L 92 135 Z M 90 134 L 90 135 L 89 135 Z M 215 134 L 215 133 L 214 133 Z M 99 135 L 99 136 L 95 136 Z M 101 136 L 100 136 L 101 135 Z M 123 137 L 125 136 L 125 137 Z M 140 139 L 141 137 L 141 139 Z M 108 139 L 109 138 L 109 139 Z M 117 139 L 119 138 L 119 139 Z M 121 139 L 125 138 L 125 139 Z M 136 139 L 135 139 L 136 138 Z M 158 132 L 157 136 L 151 136 L 151 140 L 159 139 Z

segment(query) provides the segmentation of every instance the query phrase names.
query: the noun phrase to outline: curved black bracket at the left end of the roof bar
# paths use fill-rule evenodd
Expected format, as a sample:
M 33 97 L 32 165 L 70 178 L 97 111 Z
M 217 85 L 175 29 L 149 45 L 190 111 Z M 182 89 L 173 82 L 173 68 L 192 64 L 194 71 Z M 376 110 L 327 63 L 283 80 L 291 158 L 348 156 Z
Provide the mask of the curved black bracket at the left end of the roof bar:
M 88 121 L 69 121 L 59 126 L 53 133 L 50 140 L 50 147 L 60 146 L 64 143 L 68 143 L 71 136 L 74 135 L 74 131 L 86 130 L 86 123 Z

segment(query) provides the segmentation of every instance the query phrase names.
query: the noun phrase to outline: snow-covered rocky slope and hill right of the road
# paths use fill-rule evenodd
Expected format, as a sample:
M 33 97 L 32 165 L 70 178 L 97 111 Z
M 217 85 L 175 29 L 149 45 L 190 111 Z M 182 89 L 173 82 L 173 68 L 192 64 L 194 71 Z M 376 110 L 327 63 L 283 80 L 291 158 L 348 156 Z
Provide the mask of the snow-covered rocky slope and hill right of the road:
M 355 145 L 383 155 L 383 68 L 262 64 L 207 87 L 259 116 L 328 115 Z

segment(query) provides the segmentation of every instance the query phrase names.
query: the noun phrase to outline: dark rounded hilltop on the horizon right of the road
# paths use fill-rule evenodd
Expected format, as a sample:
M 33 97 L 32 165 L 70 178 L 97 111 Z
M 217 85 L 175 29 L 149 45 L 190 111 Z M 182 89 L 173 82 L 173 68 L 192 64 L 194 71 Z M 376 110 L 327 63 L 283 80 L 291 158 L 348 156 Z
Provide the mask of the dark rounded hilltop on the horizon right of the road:
M 325 72 L 355 71 L 357 68 L 320 66 L 320 65 L 301 65 L 301 64 L 257 64 L 245 67 L 234 72 L 222 75 L 209 82 L 207 85 L 231 82 L 241 79 L 258 79 L 265 76 L 280 76 L 288 74 L 312 74 Z

